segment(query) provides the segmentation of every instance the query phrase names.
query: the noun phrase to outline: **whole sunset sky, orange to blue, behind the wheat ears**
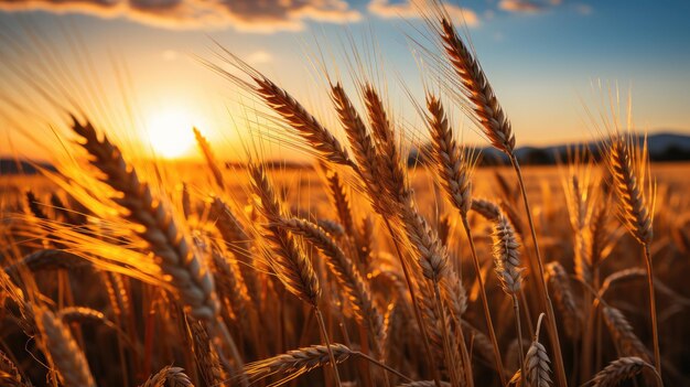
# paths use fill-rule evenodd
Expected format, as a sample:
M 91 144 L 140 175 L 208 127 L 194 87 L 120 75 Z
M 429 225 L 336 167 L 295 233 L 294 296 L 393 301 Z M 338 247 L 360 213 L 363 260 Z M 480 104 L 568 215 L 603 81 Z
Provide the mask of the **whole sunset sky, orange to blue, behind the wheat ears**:
M 690 135 L 689 1 L 465 0 L 448 7 L 459 23 L 464 19 L 518 146 L 592 137 L 589 116 L 602 108 L 600 99 L 611 88 L 630 90 L 636 128 Z M 226 144 L 220 152 L 229 157 L 248 101 L 203 64 L 219 61 L 214 42 L 319 116 L 327 104 L 313 60 L 321 50 L 328 68 L 346 73 L 348 36 L 363 42 L 364 51 L 376 51 L 377 63 L 392 74 L 388 83 L 403 82 L 421 98 L 420 68 L 406 36 L 420 36 L 423 28 L 413 6 L 396 0 L 0 0 L 0 116 L 6 118 L 0 138 L 7 140 L 0 153 L 39 152 L 25 133 L 34 129 L 19 130 L 7 119 L 18 119 L 12 101 L 25 98 L 7 74 L 32 66 L 40 73 L 36 64 L 46 52 L 65 58 L 62 74 L 74 72 L 77 83 L 91 86 L 97 77 L 103 95 L 133 105 L 149 142 L 171 142 L 159 151 L 192 152 L 185 146 L 193 142 L 191 130 L 171 137 L 166 128 L 195 125 Z M 69 36 L 78 36 L 76 52 L 88 57 L 90 75 L 71 62 L 76 60 Z M 39 49 L 18 52 L 8 43 L 14 41 Z M 40 41 L 50 49 L 40 50 Z M 129 85 L 126 98 L 122 78 Z M 388 97 L 395 114 L 413 110 L 406 108 L 405 93 Z M 337 125 L 325 116 L 326 123 Z M 184 149 L 173 152 L 175 146 Z

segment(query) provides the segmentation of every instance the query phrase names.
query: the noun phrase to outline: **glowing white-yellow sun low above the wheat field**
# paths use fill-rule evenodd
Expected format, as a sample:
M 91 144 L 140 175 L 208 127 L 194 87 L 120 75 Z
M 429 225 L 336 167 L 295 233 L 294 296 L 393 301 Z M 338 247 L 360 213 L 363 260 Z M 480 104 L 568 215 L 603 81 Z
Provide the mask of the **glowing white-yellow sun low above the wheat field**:
M 157 155 L 180 159 L 194 149 L 192 127 L 202 122 L 186 109 L 165 109 L 149 116 L 147 137 Z

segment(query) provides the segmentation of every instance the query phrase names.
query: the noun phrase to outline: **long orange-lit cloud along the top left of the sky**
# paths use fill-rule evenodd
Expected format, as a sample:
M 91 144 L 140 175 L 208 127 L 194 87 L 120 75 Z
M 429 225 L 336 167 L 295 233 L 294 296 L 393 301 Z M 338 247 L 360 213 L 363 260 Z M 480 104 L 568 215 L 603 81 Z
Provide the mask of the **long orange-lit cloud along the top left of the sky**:
M 362 19 L 345 0 L 0 0 L 0 10 L 79 12 L 171 29 L 231 26 L 259 33 L 301 31 L 306 20 L 347 23 Z

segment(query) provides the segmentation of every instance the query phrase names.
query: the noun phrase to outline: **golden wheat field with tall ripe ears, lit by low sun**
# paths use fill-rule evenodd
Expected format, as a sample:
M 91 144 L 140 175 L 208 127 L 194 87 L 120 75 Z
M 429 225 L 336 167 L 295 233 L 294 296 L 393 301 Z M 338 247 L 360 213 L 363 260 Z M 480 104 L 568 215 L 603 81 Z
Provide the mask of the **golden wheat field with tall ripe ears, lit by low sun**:
M 222 46 L 204 60 L 271 127 L 237 163 L 203 128 L 203 162 L 133 157 L 64 109 L 55 169 L 0 176 L 2 386 L 690 385 L 690 166 L 650 163 L 617 117 L 521 166 L 474 50 L 420 12 L 423 163 L 362 63 L 324 69 L 326 126 Z

